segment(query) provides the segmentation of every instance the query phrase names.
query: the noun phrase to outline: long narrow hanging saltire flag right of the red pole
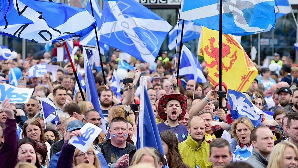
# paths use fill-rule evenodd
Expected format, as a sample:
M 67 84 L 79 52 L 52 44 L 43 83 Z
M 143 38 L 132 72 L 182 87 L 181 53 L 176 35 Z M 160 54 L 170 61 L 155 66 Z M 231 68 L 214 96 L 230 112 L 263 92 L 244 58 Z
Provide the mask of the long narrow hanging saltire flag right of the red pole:
M 89 64 L 89 61 L 87 59 L 86 49 L 83 48 L 83 54 L 84 54 L 84 68 L 85 68 L 85 83 L 86 83 L 86 96 L 88 101 L 92 102 L 94 109 L 96 109 L 100 114 L 100 128 L 102 129 L 102 132 L 106 133 L 106 127 L 105 127 L 105 120 L 103 118 L 103 112 L 100 108 L 100 100 L 97 94 L 97 89 L 95 85 L 95 80 L 93 76 L 93 72 L 91 69 L 91 65 Z

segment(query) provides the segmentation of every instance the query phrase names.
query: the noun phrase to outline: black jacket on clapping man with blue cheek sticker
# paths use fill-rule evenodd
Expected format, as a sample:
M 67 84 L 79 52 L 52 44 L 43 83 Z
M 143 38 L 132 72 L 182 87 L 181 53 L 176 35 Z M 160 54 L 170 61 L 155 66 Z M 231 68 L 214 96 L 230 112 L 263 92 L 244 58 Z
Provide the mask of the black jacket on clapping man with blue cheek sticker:
M 94 146 L 94 149 L 96 148 L 101 149 L 101 153 L 103 154 L 103 157 L 105 157 L 105 161 L 107 162 L 107 164 L 110 164 L 111 163 L 111 139 L 108 139 L 103 143 L 97 144 L 96 146 Z M 136 153 L 136 146 L 126 142 L 125 154 L 129 154 L 129 163 L 131 163 L 134 153 Z

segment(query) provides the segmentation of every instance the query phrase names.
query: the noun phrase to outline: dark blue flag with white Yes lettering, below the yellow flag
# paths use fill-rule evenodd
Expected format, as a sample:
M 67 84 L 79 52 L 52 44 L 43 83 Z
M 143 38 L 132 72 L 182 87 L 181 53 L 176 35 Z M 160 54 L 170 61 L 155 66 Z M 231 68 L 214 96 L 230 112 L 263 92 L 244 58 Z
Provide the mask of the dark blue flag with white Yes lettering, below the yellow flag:
M 262 121 L 261 115 L 264 112 L 258 109 L 241 92 L 229 89 L 228 103 L 231 107 L 232 119 L 247 117 L 252 121 L 254 127 L 260 126 Z

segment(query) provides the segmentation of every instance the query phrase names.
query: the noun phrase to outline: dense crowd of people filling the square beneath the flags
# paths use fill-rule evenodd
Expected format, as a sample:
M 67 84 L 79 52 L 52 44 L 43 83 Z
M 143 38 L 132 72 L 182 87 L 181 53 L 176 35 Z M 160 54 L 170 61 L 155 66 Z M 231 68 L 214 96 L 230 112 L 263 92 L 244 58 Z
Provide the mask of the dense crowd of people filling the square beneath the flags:
M 85 79 L 81 52 L 75 55 L 75 68 Z M 256 127 L 248 117 L 232 119 L 226 98 L 219 99 L 219 107 L 215 96 L 218 84 L 209 83 L 204 61 L 201 66 L 206 83 L 177 79 L 172 74 L 178 59 L 170 58 L 167 52 L 162 52 L 155 64 L 129 58 L 127 62 L 136 67 L 128 70 L 127 77 L 133 82 L 121 84 L 122 99 L 117 99 L 111 90 L 111 77 L 120 52 L 116 49 L 105 58 L 104 72 L 93 69 L 95 81 L 85 81 L 86 85 L 95 82 L 107 132 L 100 132 L 87 152 L 77 149 L 69 139 L 81 136 L 80 129 L 86 123 L 99 127 L 101 117 L 80 91 L 74 94 L 74 71 L 69 62 L 63 65 L 52 59 L 56 48 L 39 57 L 28 54 L 23 60 L 18 54 L 14 60 L 0 61 L 1 83 L 9 80 L 11 68 L 19 67 L 22 77 L 17 87 L 34 88 L 28 103 L 13 104 L 10 99 L 0 103 L 0 167 L 298 167 L 298 65 L 290 58 L 274 55 L 271 64 L 278 64 L 279 72 L 256 65 L 259 74 L 243 94 L 260 110 L 273 112 L 272 119 L 264 112 Z M 39 63 L 60 65 L 55 78 L 50 72 L 27 78 L 28 69 Z M 141 76 L 147 78 L 165 157 L 152 147 L 136 150 Z M 229 92 L 224 81 L 222 86 Z M 86 98 L 85 92 L 83 95 Z M 59 125 L 44 122 L 41 97 L 54 102 Z

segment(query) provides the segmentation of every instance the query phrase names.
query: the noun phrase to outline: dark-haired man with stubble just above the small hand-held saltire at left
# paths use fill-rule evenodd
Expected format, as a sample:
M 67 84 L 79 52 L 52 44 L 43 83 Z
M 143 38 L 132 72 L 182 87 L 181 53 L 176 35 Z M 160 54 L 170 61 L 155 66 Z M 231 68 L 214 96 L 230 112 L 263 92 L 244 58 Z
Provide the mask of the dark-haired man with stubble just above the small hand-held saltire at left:
M 62 85 L 57 86 L 53 90 L 54 103 L 59 113 L 63 113 L 63 105 L 66 100 L 66 88 Z

